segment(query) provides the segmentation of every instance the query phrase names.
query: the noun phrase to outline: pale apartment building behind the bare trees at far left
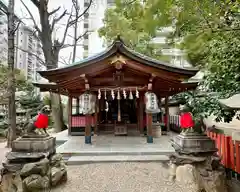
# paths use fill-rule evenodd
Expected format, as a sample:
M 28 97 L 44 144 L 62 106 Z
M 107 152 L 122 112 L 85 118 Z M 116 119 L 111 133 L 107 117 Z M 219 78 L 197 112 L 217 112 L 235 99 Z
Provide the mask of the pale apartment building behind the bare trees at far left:
M 0 0 L 0 6 L 7 10 L 6 3 Z M 7 15 L 0 11 L 0 64 L 7 64 L 8 53 Z M 41 42 L 33 29 L 21 23 L 15 32 L 15 68 L 20 69 L 26 79 L 39 81 L 37 70 L 43 70 Z

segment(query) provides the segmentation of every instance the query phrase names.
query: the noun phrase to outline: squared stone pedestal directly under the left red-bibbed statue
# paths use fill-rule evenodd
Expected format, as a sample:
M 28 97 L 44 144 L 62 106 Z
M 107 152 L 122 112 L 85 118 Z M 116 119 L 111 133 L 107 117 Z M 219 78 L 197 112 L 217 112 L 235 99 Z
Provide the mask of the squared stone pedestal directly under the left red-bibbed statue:
M 56 138 L 49 136 L 24 136 L 12 144 L 12 152 L 49 153 L 55 152 Z

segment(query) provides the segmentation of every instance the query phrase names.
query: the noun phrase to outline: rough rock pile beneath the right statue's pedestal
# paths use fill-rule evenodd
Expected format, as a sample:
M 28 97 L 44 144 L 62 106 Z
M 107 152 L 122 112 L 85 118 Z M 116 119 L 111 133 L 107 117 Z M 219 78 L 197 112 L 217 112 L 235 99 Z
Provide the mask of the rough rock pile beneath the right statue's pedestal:
M 169 179 L 176 179 L 191 192 L 227 192 L 225 169 L 217 156 L 176 154 L 170 160 Z

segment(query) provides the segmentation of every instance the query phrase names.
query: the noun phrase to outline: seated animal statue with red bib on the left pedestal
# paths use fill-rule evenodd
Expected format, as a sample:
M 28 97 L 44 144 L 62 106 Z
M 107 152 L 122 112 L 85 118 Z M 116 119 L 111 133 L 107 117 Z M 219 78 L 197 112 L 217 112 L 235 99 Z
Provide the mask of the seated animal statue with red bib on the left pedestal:
M 50 115 L 50 107 L 45 105 L 40 109 L 38 115 L 34 117 L 30 122 L 25 126 L 27 135 L 36 135 L 36 129 L 39 130 L 41 134 L 48 135 L 47 127 L 48 127 L 48 117 Z

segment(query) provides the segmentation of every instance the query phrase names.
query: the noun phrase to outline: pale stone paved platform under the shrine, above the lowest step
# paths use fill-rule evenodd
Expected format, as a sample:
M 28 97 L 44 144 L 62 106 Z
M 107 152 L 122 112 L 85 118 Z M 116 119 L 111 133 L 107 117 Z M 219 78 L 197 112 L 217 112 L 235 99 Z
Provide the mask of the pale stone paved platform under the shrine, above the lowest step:
M 63 140 L 56 136 L 56 140 Z M 146 137 L 131 136 L 93 136 L 92 145 L 84 144 L 84 136 L 69 136 L 68 140 L 57 148 L 58 153 L 62 154 L 95 154 L 95 153 L 172 153 L 174 152 L 171 143 L 171 136 L 161 136 L 154 138 L 152 144 L 146 143 Z

